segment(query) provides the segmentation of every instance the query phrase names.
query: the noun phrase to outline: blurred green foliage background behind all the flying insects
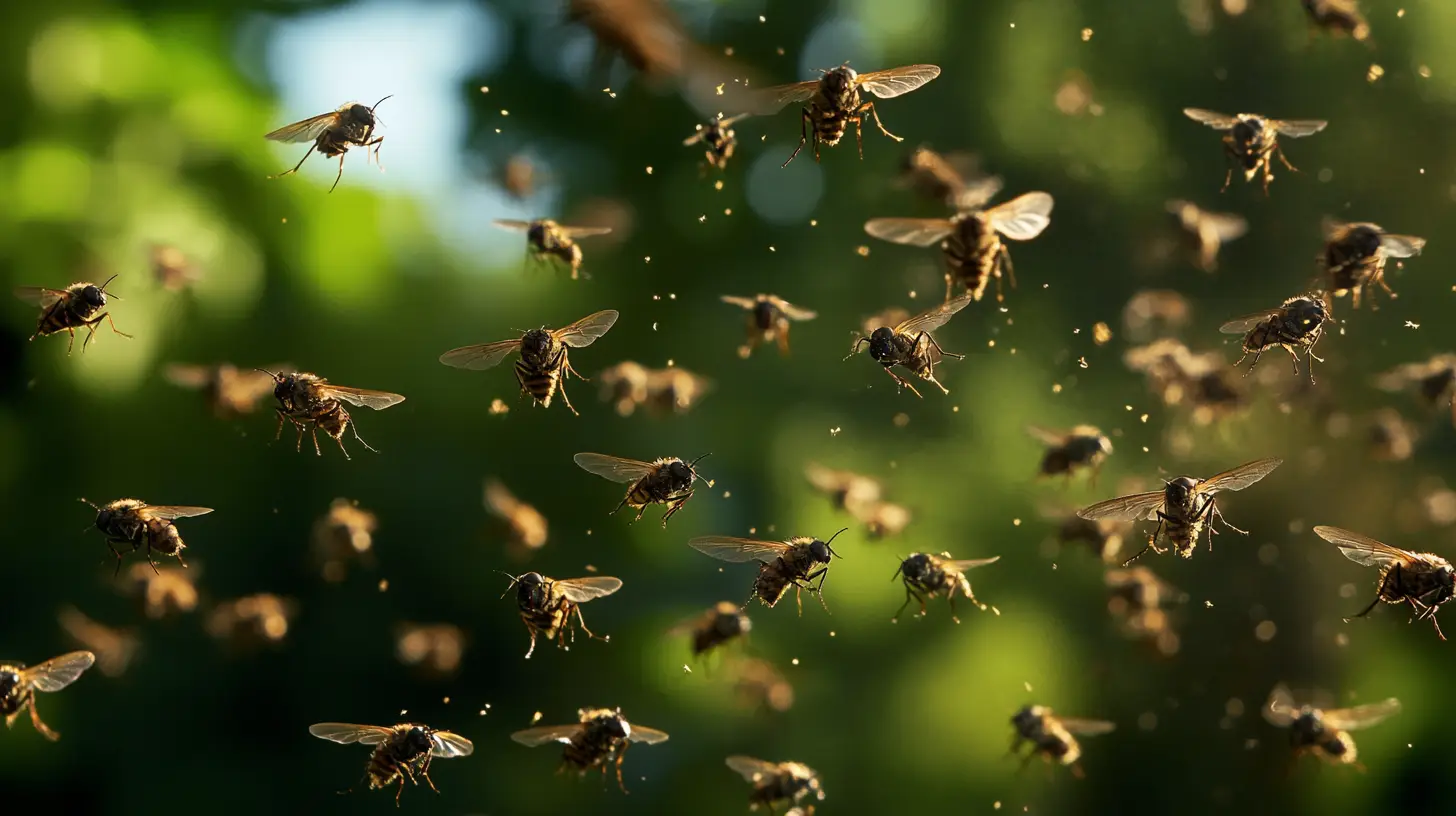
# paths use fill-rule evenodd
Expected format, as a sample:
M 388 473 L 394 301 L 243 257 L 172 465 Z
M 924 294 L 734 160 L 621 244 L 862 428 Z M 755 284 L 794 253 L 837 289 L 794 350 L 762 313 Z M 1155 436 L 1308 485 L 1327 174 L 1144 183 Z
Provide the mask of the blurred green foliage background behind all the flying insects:
M 943 67 L 923 90 L 882 105 L 904 146 L 869 133 L 863 162 L 846 144 L 827 150 L 818 169 L 799 157 L 782 170 L 823 181 L 811 227 L 770 226 L 744 200 L 753 160 L 767 153 L 778 163 L 792 147 L 794 114 L 740 125 L 741 160 L 715 191 L 699 179 L 699 153 L 678 146 L 696 115 L 677 96 L 633 79 L 613 99 L 545 76 L 520 45 L 556 31 L 556 19 L 526 1 L 491 3 L 514 45 L 489 76 L 459 87 L 473 122 L 467 170 L 488 172 L 514 149 L 539 144 L 563 185 L 563 214 L 587 197 L 628 204 L 635 230 L 616 248 L 588 245 L 593 280 L 582 283 L 523 277 L 514 252 L 462 252 L 421 201 L 358 184 L 373 170 L 357 157 L 332 195 L 317 173 L 265 178 L 293 159 L 261 136 L 297 111 L 280 109 L 269 87 L 248 79 L 259 76 L 261 55 L 237 47 L 236 32 L 325 6 L 58 0 L 0 12 L 9 55 L 0 64 L 4 281 L 64 286 L 119 274 L 124 300 L 114 313 L 135 335 L 103 334 L 86 354 L 66 357 L 58 338 L 26 342 L 33 313 L 19 303 L 3 312 L 9 580 L 0 653 L 35 663 L 71 648 L 55 624 L 68 603 L 143 635 L 122 678 L 93 670 L 42 697 L 61 742 L 47 743 L 25 723 L 0 734 L 7 810 L 45 801 L 63 813 L 386 813 L 387 794 L 333 794 L 357 778 L 365 752 L 306 729 L 320 720 L 387 724 L 408 710 L 476 745 L 475 756 L 435 766 L 441 797 L 406 791 L 406 809 L 441 813 L 738 813 L 748 788 L 724 768 L 729 753 L 812 765 L 828 793 L 824 813 L 992 813 L 994 803 L 1032 813 L 1449 812 L 1450 646 L 1393 609 L 1342 624 L 1373 590 L 1373 574 L 1309 527 L 1345 526 L 1412 549 L 1449 552 L 1452 544 L 1418 503 L 1452 478 L 1452 430 L 1376 392 L 1369 377 L 1450 348 L 1440 224 L 1456 189 L 1447 138 L 1456 6 L 1369 0 L 1367 48 L 1310 38 L 1291 0 L 1252 0 L 1238 17 L 1213 9 L 1207 35 L 1191 32 L 1172 0 L 724 0 L 725 13 L 699 34 L 713 47 L 734 45 L 769 82 L 807 79 L 798 47 L 828 15 L 860 23 L 885 66 Z M 1083 28 L 1093 31 L 1089 41 Z M 788 57 L 775 54 L 779 45 Z M 1372 63 L 1385 68 L 1373 83 Z M 1091 82 L 1101 115 L 1066 117 L 1053 105 L 1073 73 Z M 1270 198 L 1252 185 L 1220 197 L 1217 136 L 1179 114 L 1188 105 L 1326 118 L 1331 127 L 1290 147 L 1303 172 L 1280 169 Z M 495 134 L 501 108 L 511 111 L 505 136 Z M 925 401 L 887 388 L 866 358 L 840 363 L 863 315 L 939 296 L 933 254 L 874 243 L 860 230 L 874 216 L 936 213 L 890 184 L 917 141 L 980 153 L 1008 179 L 1008 194 L 1057 197 L 1051 229 L 1013 248 L 1021 287 L 1005 312 L 983 302 L 942 334 L 949 350 L 970 356 L 942 370 L 951 396 L 927 392 Z M 1217 274 L 1146 261 L 1146 246 L 1171 229 L 1162 205 L 1172 197 L 1252 221 Z M 1095 347 L 1092 323 L 1117 331 L 1133 291 L 1172 287 L 1195 303 L 1191 345 L 1223 342 L 1219 323 L 1307 286 L 1326 214 L 1431 242 L 1393 275 L 1399 300 L 1377 312 L 1337 303 L 1344 332 L 1321 345 L 1328 364 L 1316 389 L 1296 395 L 1297 380 L 1281 370 L 1251 412 L 1200 431 L 1194 453 L 1176 456 L 1163 431 L 1184 420 L 1123 369 L 1121 332 Z M 192 291 L 153 283 L 153 240 L 197 258 L 205 277 Z M 859 245 L 871 254 L 855 254 Z M 910 290 L 920 297 L 909 300 Z M 734 356 L 741 316 L 718 296 L 754 291 L 820 310 L 795 331 L 792 357 Z M 689 415 L 654 421 L 620 418 L 596 402 L 593 385 L 574 383 L 575 418 L 517 402 L 505 369 L 469 374 L 435 361 L 454 345 L 510 337 L 513 326 L 562 325 L 604 307 L 622 321 L 574 356 L 582 373 L 625 358 L 674 360 L 712 377 L 715 392 Z M 296 455 L 287 443 L 269 446 L 268 415 L 218 423 L 195 395 L 166 385 L 159 370 L 172 360 L 288 360 L 409 399 L 355 412 L 379 455 Z M 1275 357 L 1265 364 L 1286 367 Z M 508 415 L 486 415 L 495 396 L 511 405 Z M 1332 407 L 1360 415 L 1382 404 L 1427 423 L 1412 462 L 1372 463 L 1358 439 L 1324 430 Z M 904 427 L 893 423 L 900 412 Z M 1112 433 L 1117 453 L 1101 485 L 1035 481 L 1040 452 L 1022 433 L 1026 423 L 1093 423 Z M 705 471 L 716 487 L 667 530 L 648 520 L 629 526 L 606 516 L 616 488 L 572 466 L 578 450 L 642 459 L 711 450 Z M 1125 475 L 1208 475 L 1261 456 L 1286 465 L 1226 510 L 1252 530 L 1248 539 L 1220 536 L 1191 561 L 1149 560 L 1190 595 L 1174 612 L 1184 647 L 1172 659 L 1118 634 L 1091 557 L 1045 548 L 1045 504 L 1104 498 Z M 686 541 L 750 527 L 827 536 L 846 519 L 810 491 L 807 460 L 884 476 L 916 520 L 895 541 L 868 542 L 858 529 L 842 536 L 844 558 L 826 592 L 831 615 L 817 603 L 802 616 L 792 605 L 750 609 L 748 650 L 783 667 L 798 702 L 782 715 L 744 711 L 731 666 L 684 672 L 686 644 L 664 631 L 743 597 L 751 568 L 719 570 Z M 520 565 L 480 507 L 489 474 L 550 519 L 550 544 L 531 568 L 566 577 L 593 564 L 625 580 L 622 593 L 587 609 L 610 644 L 521 660 L 526 634 L 511 602 L 496 597 L 505 580 L 495 573 Z M 183 529 L 188 554 L 205 565 L 205 595 L 297 599 L 288 641 L 239 656 L 210 641 L 197 616 L 146 621 L 111 584 L 100 538 L 79 533 L 92 519 L 79 495 L 215 507 Z M 309 565 L 307 536 L 339 495 L 379 513 L 379 567 L 325 584 Z M 925 621 L 891 625 L 901 592 L 887 578 L 897 557 L 916 549 L 1002 555 L 974 576 L 1000 613 L 970 613 L 957 627 L 938 605 Z M 389 592 L 377 590 L 380 578 Z M 1351 583 L 1357 592 L 1342 596 Z M 459 676 L 431 683 L 400 666 L 392 640 L 399 621 L 464 627 L 472 640 Z M 1277 625 L 1268 643 L 1254 637 L 1261 621 Z M 1347 646 L 1337 644 L 1341 634 Z M 1284 734 L 1257 714 L 1277 680 L 1324 686 L 1341 701 L 1393 695 L 1405 710 L 1358 734 L 1367 772 L 1313 762 L 1290 769 Z M 1243 714 L 1227 717 L 1235 698 Z M 1118 723 L 1086 742 L 1086 780 L 1040 764 L 1018 774 L 1005 756 L 1008 718 L 1031 701 Z M 536 711 L 569 721 L 582 705 L 622 705 L 673 734 L 629 755 L 626 797 L 596 780 L 553 778 L 550 749 L 508 739 Z

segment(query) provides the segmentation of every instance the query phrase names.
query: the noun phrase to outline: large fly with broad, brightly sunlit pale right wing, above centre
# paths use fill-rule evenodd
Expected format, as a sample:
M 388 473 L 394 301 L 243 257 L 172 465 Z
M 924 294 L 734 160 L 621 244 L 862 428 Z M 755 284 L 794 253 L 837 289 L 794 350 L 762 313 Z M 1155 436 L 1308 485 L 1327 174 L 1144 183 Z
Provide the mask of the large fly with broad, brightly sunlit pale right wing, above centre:
M 993 188 L 992 194 L 996 192 Z M 986 201 L 962 201 L 960 213 L 949 219 L 871 219 L 865 232 L 872 238 L 909 246 L 936 246 L 945 258 L 945 299 L 960 284 L 980 300 L 986 287 L 996 281 L 996 299 L 1002 300 L 1002 275 L 1012 289 L 1016 272 L 1010 264 L 1010 249 L 1002 238 L 1031 240 L 1051 224 L 1056 201 L 1047 192 L 1026 192 L 987 210 Z

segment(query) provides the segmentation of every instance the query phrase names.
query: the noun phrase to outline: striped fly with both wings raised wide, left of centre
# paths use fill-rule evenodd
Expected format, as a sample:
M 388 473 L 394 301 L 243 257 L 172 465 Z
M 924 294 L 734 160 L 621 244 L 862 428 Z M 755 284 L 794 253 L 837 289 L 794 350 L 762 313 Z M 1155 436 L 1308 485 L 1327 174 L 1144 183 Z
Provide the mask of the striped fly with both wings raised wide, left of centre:
M 562 402 L 572 414 L 577 414 L 566 396 L 566 377 L 572 374 L 579 380 L 587 377 L 571 367 L 566 353 L 571 348 L 591 345 L 607 334 L 607 329 L 616 322 L 617 313 L 606 309 L 559 329 L 542 326 L 515 340 L 451 348 L 440 356 L 440 361 L 451 369 L 483 372 L 494 369 L 511 354 L 520 353 L 521 358 L 515 361 L 515 382 L 521 385 L 521 391 L 531 395 L 531 399 L 545 408 L 550 407 L 552 396 L 559 391 Z

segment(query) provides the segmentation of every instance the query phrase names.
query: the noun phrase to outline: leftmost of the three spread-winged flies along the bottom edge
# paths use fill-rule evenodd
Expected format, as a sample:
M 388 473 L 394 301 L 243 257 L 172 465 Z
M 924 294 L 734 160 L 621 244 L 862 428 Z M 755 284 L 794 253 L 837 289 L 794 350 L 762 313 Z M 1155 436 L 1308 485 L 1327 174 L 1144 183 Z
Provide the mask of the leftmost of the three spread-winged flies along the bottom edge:
M 435 758 L 453 759 L 456 756 L 470 756 L 475 746 L 460 734 L 431 729 L 416 723 L 400 723 L 397 726 L 355 726 L 352 723 L 317 723 L 309 726 L 309 733 L 336 742 L 339 745 L 368 745 L 374 752 L 364 768 L 364 780 L 368 788 L 384 788 L 399 782 L 395 793 L 395 804 L 405 793 L 405 781 L 418 785 L 419 780 L 430 784 L 430 790 L 440 793 L 430 778 L 430 764 Z M 347 793 L 347 791 L 345 791 Z

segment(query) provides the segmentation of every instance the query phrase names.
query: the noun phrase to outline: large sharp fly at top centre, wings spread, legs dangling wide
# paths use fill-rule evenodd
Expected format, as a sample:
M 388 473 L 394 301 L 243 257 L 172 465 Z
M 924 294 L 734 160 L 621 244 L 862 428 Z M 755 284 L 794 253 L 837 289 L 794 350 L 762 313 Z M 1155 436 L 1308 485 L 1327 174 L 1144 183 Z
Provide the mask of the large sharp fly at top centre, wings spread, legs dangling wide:
M 920 87 L 932 79 L 941 76 L 936 66 L 903 66 L 885 71 L 858 73 L 849 63 L 837 68 L 820 70 L 824 76 L 808 82 L 780 85 L 759 92 L 753 105 L 754 114 L 773 114 L 785 105 L 804 102 L 799 111 L 802 133 L 799 146 L 794 149 L 783 166 L 804 150 L 810 137 L 814 138 L 814 160 L 820 160 L 820 144 L 834 147 L 844 137 L 850 124 L 855 125 L 855 143 L 859 146 L 859 157 L 865 157 L 865 140 L 860 134 L 860 121 L 871 118 L 879 133 L 895 141 L 904 138 L 885 130 L 875 112 L 874 102 L 863 102 L 860 92 L 869 92 L 881 99 L 893 99 Z

